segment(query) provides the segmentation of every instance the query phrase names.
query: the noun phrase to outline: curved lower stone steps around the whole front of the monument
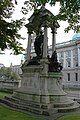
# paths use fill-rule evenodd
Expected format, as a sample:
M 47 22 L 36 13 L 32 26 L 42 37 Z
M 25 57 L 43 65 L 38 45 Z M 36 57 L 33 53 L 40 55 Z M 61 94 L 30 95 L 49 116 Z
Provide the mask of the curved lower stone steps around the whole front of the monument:
M 6 99 L 0 99 L 0 102 L 7 106 L 10 106 L 15 109 L 20 109 L 23 111 L 32 112 L 34 114 L 39 114 L 39 115 L 43 114 L 43 115 L 47 115 L 47 116 L 54 114 L 56 112 L 64 113 L 64 112 L 74 111 L 77 108 L 79 108 L 79 106 L 80 106 L 79 103 L 74 102 L 74 104 L 70 103 L 71 106 L 66 106 L 66 105 L 61 106 L 62 104 L 57 104 L 57 106 L 55 108 L 54 107 L 49 108 L 49 109 L 48 108 L 37 108 L 37 107 L 34 107 L 35 103 L 34 104 L 31 104 L 31 102 L 27 103 L 27 101 L 25 102 L 25 101 L 21 101 L 19 99 L 17 100 L 16 98 L 13 98 L 13 97 L 5 97 L 5 98 Z

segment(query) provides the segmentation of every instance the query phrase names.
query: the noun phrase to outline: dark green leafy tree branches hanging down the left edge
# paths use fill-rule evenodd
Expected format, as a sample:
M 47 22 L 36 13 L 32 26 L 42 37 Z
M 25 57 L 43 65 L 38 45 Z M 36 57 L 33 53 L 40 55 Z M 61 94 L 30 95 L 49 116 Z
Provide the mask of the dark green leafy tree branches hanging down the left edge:
M 15 4 L 17 4 L 16 0 Z M 0 0 L 0 48 L 1 50 L 12 49 L 14 54 L 19 54 L 24 50 L 19 42 L 22 37 L 18 34 L 23 25 L 23 18 L 11 20 L 13 11 L 12 0 Z

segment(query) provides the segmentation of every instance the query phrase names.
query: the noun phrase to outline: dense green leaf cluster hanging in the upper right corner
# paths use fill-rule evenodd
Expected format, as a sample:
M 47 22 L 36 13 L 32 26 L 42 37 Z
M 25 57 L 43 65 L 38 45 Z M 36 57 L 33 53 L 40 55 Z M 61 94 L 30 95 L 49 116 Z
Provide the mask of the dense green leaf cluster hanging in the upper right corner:
M 69 26 L 65 29 L 68 32 L 70 29 L 79 31 L 80 26 L 80 1 L 79 0 L 62 0 L 58 18 L 68 21 Z

